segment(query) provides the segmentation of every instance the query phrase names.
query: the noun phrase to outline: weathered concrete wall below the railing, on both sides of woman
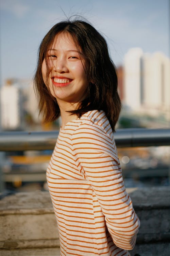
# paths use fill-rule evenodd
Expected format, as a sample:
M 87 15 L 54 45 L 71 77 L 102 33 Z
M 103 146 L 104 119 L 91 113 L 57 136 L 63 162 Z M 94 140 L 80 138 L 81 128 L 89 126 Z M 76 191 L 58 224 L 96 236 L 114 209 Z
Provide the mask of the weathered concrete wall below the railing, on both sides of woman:
M 131 255 L 169 255 L 170 187 L 129 188 L 141 227 Z M 0 255 L 60 255 L 48 192 L 17 193 L 0 201 Z

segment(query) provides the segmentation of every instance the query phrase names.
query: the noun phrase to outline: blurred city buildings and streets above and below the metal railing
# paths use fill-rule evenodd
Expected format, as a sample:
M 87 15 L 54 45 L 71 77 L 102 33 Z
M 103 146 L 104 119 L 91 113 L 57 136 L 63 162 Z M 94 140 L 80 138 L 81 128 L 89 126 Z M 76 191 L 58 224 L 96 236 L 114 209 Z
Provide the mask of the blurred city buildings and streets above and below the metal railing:
M 117 68 L 122 111 L 118 128 L 170 128 L 170 59 L 131 48 Z M 58 130 L 60 119 L 43 124 L 33 81 L 9 78 L 0 88 L 1 131 Z M 52 151 L 3 152 L 3 190 L 47 190 Z M 170 147 L 118 148 L 126 187 L 170 185 Z

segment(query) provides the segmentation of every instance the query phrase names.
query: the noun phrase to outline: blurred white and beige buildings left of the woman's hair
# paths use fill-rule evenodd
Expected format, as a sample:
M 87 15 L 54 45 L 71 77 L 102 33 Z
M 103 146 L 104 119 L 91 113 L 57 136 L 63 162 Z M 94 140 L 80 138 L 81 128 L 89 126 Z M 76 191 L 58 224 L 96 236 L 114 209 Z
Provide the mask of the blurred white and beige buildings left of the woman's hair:
M 8 79 L 0 88 L 0 120 L 2 130 L 23 130 L 27 124 L 40 123 L 32 81 Z

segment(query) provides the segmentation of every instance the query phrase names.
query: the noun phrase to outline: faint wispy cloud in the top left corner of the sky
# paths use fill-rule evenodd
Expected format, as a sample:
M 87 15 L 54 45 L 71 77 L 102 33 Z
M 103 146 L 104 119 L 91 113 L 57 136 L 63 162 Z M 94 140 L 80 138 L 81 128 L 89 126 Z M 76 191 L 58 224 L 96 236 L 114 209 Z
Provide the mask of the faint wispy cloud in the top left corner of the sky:
M 1 2 L 0 9 L 13 13 L 17 18 L 22 18 L 30 10 L 30 6 L 18 0 L 5 0 Z

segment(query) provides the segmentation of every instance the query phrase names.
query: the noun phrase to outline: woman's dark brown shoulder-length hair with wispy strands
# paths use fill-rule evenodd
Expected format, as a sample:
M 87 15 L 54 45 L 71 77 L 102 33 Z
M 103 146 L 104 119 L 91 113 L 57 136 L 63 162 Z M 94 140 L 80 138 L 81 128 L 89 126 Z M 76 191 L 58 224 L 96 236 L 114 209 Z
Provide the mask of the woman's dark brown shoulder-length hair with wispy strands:
M 115 131 L 121 109 L 117 92 L 116 68 L 109 57 L 107 43 L 103 36 L 93 26 L 82 20 L 57 23 L 46 34 L 39 46 L 34 86 L 39 97 L 39 112 L 43 114 L 44 122 L 51 122 L 60 116 L 57 101 L 43 81 L 41 67 L 49 46 L 53 43 L 55 36 L 61 32 L 71 35 L 77 47 L 82 49 L 88 63 L 85 70 L 88 80 L 87 97 L 79 103 L 77 110 L 69 111 L 70 114 L 77 114 L 80 118 L 87 111 L 103 110 Z

